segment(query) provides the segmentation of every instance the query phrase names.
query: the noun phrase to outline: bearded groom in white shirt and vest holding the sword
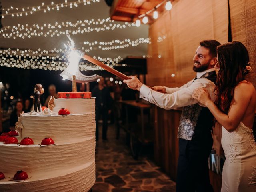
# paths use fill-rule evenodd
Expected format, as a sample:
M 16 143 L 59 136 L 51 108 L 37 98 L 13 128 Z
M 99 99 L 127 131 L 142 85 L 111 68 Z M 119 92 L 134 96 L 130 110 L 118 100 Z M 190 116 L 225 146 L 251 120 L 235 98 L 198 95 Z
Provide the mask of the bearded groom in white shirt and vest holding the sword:
M 212 100 L 217 63 L 216 48 L 220 45 L 216 40 L 204 40 L 196 49 L 193 70 L 196 77 L 179 88 L 155 86 L 156 92 L 142 84 L 135 76 L 124 80 L 128 87 L 140 91 L 140 98 L 164 109 L 183 107 L 178 130 L 179 158 L 176 180 L 177 192 L 213 192 L 209 179 L 208 157 L 213 139 L 213 116 L 204 106 L 200 106 L 192 98 L 196 88 L 204 87 L 210 93 Z

